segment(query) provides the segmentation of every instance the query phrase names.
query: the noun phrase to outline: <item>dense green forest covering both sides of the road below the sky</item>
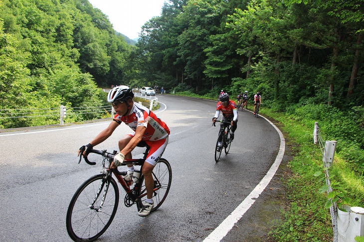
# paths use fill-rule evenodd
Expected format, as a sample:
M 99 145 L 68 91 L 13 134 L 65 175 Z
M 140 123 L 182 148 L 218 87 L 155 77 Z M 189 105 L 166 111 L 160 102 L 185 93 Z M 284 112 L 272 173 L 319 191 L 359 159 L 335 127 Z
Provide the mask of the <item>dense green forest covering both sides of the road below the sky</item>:
M 250 102 L 259 91 L 265 114 L 286 128 L 301 125 L 290 134 L 305 129 L 295 140 L 312 142 L 319 121 L 325 137 L 338 141 L 337 156 L 360 184 L 348 185 L 347 195 L 363 207 L 363 28 L 364 0 L 166 0 L 161 15 L 142 26 L 134 43 L 88 0 L 0 0 L 0 128 L 59 122 L 59 116 L 2 116 L 22 110 L 106 107 L 102 89 L 111 85 L 157 85 L 211 99 L 223 89 L 232 100 L 247 90 Z M 306 129 L 311 134 L 303 135 Z M 311 149 L 301 149 L 297 157 L 307 159 Z M 307 160 L 297 167 L 302 162 Z M 297 217 L 311 211 L 302 207 L 296 206 Z M 330 228 L 327 211 L 320 218 L 307 214 L 302 223 L 311 219 Z M 286 221 L 292 222 L 289 215 Z M 302 223 L 292 222 L 281 235 L 284 224 L 276 239 L 320 241 L 312 240 L 309 229 L 301 233 L 305 236 L 294 234 Z M 287 237 L 290 233 L 296 239 Z

